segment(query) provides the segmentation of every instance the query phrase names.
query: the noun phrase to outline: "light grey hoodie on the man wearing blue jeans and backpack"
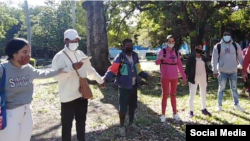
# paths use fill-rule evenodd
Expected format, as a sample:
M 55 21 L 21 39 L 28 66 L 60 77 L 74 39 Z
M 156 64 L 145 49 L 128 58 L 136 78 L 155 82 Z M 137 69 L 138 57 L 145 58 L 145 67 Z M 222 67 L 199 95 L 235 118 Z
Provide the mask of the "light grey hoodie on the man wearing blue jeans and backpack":
M 218 48 L 217 48 L 218 44 L 215 46 L 213 50 L 213 54 L 212 54 L 212 60 L 211 60 L 212 70 L 214 74 L 218 72 L 236 73 L 238 64 L 242 66 L 243 54 L 242 54 L 241 47 L 239 44 L 236 43 L 237 54 L 238 54 L 237 55 L 238 57 L 236 57 L 236 50 L 232 42 L 233 41 L 231 41 L 230 43 L 225 43 L 223 40 L 220 41 L 220 44 L 221 44 L 220 55 L 218 55 Z M 218 62 L 218 58 L 219 58 L 219 62 Z

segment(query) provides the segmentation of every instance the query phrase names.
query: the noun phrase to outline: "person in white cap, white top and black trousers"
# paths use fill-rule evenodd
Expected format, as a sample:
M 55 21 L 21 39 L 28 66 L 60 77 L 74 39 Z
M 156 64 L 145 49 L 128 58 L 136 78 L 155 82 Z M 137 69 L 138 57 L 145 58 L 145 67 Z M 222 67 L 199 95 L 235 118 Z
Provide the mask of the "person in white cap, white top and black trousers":
M 62 141 L 71 140 L 71 128 L 73 119 L 76 120 L 76 132 L 78 141 L 85 141 L 85 122 L 88 111 L 88 100 L 82 98 L 79 92 L 79 75 L 82 78 L 96 80 L 103 84 L 101 76 L 91 66 L 89 59 L 81 60 L 87 56 L 78 50 L 78 41 L 81 38 L 74 29 L 68 29 L 64 32 L 64 48 L 59 51 L 52 61 L 52 68 L 66 68 L 68 73 L 60 74 L 55 79 L 59 85 L 59 96 L 61 102 L 61 122 L 62 122 Z M 73 64 L 71 63 L 70 59 Z

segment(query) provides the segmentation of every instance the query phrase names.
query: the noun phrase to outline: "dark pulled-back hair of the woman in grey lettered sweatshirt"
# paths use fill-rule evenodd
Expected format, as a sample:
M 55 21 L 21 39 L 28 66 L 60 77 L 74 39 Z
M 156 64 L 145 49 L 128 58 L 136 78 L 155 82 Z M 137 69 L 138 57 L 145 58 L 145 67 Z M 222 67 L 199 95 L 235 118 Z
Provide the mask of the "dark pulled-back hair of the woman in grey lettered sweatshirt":
M 23 38 L 9 40 L 5 46 L 5 54 L 8 56 L 8 60 L 13 59 L 13 55 L 28 44 L 29 42 Z

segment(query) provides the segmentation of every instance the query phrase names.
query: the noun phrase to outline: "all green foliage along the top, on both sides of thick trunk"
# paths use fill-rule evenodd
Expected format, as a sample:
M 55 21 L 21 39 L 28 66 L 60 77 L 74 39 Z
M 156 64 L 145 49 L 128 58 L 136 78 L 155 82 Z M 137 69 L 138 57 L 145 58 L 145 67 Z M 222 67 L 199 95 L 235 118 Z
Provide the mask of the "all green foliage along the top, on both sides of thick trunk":
M 46 0 L 45 6 L 30 7 L 31 44 L 35 56 L 48 58 L 49 53 L 53 56 L 62 49 L 63 32 L 68 28 L 78 30 L 82 37 L 79 47 L 86 51 L 84 1 L 76 1 L 75 25 L 72 24 L 71 0 L 62 0 L 62 3 Z M 238 2 L 244 3 L 243 0 Z M 104 6 L 109 47 L 118 47 L 124 38 L 133 39 L 135 45 L 160 46 L 168 34 L 178 39 L 200 37 L 209 40 L 219 37 L 223 26 L 250 35 L 250 10 L 242 6 L 233 9 L 211 0 L 105 0 Z M 0 11 L 0 46 L 14 37 L 26 38 L 24 5 L 16 8 L 0 3 Z M 138 36 L 135 38 L 135 35 Z

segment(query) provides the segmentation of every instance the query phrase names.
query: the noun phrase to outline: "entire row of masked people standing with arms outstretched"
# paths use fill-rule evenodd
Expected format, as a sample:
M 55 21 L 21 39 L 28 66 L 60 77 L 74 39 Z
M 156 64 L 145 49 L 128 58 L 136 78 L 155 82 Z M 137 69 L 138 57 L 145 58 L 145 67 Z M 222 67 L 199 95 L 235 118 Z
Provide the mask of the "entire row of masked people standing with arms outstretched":
M 1 63 L 1 108 L 0 109 L 0 141 L 29 141 L 32 135 L 33 120 L 30 103 L 33 96 L 33 80 L 54 77 L 59 85 L 59 97 L 61 102 L 62 141 L 71 140 L 72 122 L 76 120 L 76 132 L 78 141 L 85 141 L 86 115 L 88 111 L 88 99 L 84 99 L 79 92 L 79 77 L 96 80 L 104 84 L 111 78 L 116 77 L 115 84 L 119 87 L 119 119 L 120 135 L 126 135 L 125 117 L 129 115 L 129 130 L 139 131 L 140 128 L 134 124 L 135 110 L 137 108 L 137 90 L 139 88 L 139 77 L 150 81 L 148 73 L 141 69 L 139 57 L 133 51 L 131 39 L 122 42 L 123 51 L 118 54 L 107 72 L 101 77 L 92 67 L 87 56 L 78 50 L 78 41 L 81 38 L 74 29 L 64 32 L 64 48 L 53 58 L 53 70 L 37 70 L 29 64 L 30 45 L 27 40 L 15 38 L 10 40 L 5 48 L 8 60 Z M 226 79 L 229 78 L 233 92 L 235 108 L 244 111 L 239 106 L 237 93 L 237 65 L 242 65 L 242 51 L 238 44 L 232 41 L 230 33 L 225 32 L 223 39 L 213 51 L 212 70 L 208 67 L 206 58 L 202 55 L 202 44 L 197 44 L 196 54 L 187 60 L 186 69 L 183 65 L 178 51 L 175 49 L 175 39 L 169 35 L 166 39 L 167 46 L 162 49 L 155 63 L 161 66 L 162 84 L 162 122 L 165 122 L 165 111 L 167 97 L 171 97 L 173 118 L 181 120 L 178 115 L 176 94 L 178 85 L 178 72 L 182 76 L 182 85 L 189 82 L 190 88 L 190 117 L 194 116 L 193 101 L 197 86 L 200 87 L 202 113 L 211 116 L 206 109 L 207 76 L 214 74 L 219 80 L 218 110 L 222 110 L 222 97 L 225 90 Z M 219 46 L 220 50 L 219 51 Z M 249 52 L 249 51 L 248 51 Z M 249 60 L 245 64 L 250 63 Z M 248 66 L 245 65 L 245 66 Z M 243 72 L 247 72 L 243 66 Z M 247 75 L 243 73 L 244 78 Z M 104 86 L 104 85 L 103 85 Z M 4 96 L 3 93 L 4 92 Z M 3 109 L 6 109 L 6 113 Z M 2 113 L 1 113 L 2 111 Z M 6 120 L 1 116 L 6 114 Z M 2 116 L 3 117 L 3 116 Z M 5 123 L 6 122 L 6 123 Z M 4 125 L 4 126 L 2 126 Z

